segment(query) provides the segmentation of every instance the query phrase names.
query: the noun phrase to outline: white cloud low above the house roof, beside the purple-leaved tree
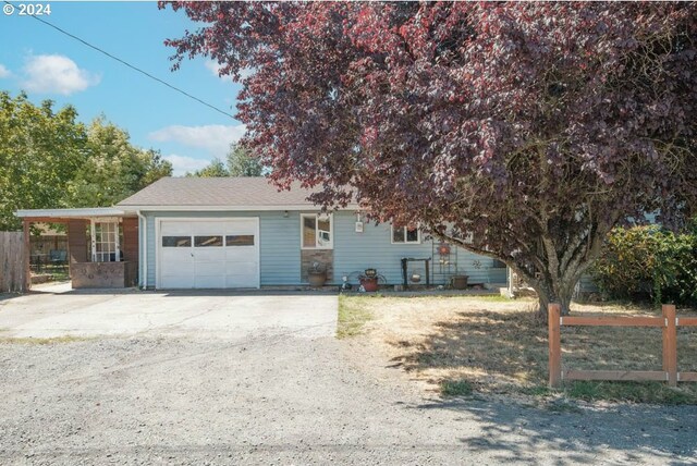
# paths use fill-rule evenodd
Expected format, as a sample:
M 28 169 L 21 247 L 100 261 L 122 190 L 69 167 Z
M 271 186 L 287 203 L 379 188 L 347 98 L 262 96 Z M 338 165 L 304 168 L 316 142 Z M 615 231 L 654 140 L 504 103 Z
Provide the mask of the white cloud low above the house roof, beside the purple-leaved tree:
M 159 143 L 174 142 L 185 146 L 207 150 L 213 157 L 224 158 L 231 143 L 240 140 L 244 135 L 244 124 L 225 126 L 210 124 L 206 126 L 167 126 L 148 135 Z

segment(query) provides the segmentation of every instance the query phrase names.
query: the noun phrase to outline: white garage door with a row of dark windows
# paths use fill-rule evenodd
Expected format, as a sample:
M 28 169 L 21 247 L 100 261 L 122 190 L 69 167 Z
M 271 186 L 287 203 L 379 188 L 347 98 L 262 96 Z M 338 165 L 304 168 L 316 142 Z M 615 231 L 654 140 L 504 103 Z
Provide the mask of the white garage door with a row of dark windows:
M 259 219 L 160 220 L 159 289 L 259 287 Z

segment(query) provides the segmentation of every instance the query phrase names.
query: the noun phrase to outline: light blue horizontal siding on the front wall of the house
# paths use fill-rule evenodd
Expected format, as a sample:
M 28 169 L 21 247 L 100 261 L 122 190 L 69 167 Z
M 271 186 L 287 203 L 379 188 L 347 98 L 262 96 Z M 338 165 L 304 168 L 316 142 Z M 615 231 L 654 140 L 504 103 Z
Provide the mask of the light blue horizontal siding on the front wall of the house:
M 155 286 L 156 279 L 156 218 L 225 218 L 258 217 L 261 285 L 301 284 L 301 212 L 283 211 L 179 211 L 142 212 L 147 222 L 147 282 Z M 341 283 L 342 275 L 351 274 L 356 283 L 356 274 L 367 268 L 375 268 L 388 283 L 401 283 L 400 259 L 403 257 L 426 258 L 433 256 L 432 242 L 421 244 L 391 244 L 389 224 L 375 225 L 364 222 L 364 232 L 355 232 L 356 217 L 353 212 L 334 213 L 334 263 L 333 283 Z M 439 260 L 438 254 L 431 259 Z M 477 268 L 477 262 L 479 268 Z M 505 269 L 492 269 L 492 259 L 458 249 L 458 269 L 469 275 L 470 283 L 505 283 Z M 423 262 L 412 262 L 409 270 L 425 273 Z M 441 280 L 440 283 L 443 281 Z M 440 284 L 438 283 L 438 284 Z

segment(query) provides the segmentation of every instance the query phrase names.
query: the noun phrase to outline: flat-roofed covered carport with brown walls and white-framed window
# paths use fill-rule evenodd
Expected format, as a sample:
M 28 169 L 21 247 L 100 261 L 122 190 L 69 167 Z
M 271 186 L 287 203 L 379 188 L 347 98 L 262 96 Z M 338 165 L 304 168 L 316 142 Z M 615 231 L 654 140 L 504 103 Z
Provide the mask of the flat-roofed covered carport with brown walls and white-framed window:
M 27 283 L 30 283 L 32 223 L 62 223 L 68 230 L 68 265 L 74 289 L 125 287 L 137 284 L 136 216 L 110 207 L 19 210 L 15 214 L 23 219 Z

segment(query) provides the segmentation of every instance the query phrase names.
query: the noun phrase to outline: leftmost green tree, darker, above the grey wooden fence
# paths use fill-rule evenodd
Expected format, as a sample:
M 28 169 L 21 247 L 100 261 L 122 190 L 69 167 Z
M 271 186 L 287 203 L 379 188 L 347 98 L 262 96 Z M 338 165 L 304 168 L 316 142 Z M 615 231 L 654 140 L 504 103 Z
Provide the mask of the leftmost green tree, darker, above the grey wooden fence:
M 66 106 L 39 107 L 22 93 L 0 93 L 0 230 L 17 230 L 17 209 L 63 206 L 65 185 L 86 159 L 85 127 Z

